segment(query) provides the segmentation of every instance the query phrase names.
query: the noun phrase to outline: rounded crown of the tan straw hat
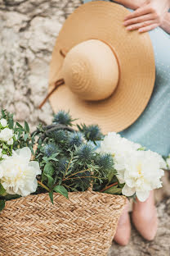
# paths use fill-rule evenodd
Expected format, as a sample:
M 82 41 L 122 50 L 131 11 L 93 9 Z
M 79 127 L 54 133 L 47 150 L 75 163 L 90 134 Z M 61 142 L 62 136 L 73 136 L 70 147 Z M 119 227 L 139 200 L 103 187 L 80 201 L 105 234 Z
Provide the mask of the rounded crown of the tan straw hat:
M 119 81 L 119 64 L 109 45 L 98 39 L 71 48 L 63 64 L 65 85 L 85 100 L 110 97 Z

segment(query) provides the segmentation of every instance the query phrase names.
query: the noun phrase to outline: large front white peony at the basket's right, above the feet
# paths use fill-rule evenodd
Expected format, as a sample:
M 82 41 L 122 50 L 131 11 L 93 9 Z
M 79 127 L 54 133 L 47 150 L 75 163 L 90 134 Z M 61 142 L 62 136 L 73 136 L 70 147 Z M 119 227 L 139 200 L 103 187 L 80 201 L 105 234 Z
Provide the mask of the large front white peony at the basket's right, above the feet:
M 144 202 L 150 191 L 162 186 L 160 181 L 164 171 L 160 168 L 159 154 L 148 151 L 136 151 L 125 163 L 125 169 L 121 173 L 121 180 L 125 183 L 122 193 L 136 197 Z

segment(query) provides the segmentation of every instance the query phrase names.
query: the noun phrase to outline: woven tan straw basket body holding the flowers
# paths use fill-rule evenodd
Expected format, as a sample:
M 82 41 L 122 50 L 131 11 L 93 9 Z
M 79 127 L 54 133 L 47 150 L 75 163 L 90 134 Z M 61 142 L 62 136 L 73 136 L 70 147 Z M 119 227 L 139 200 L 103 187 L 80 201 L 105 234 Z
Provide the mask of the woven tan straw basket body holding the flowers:
M 0 255 L 107 255 L 125 204 L 93 191 L 30 195 L 8 201 L 0 213 Z

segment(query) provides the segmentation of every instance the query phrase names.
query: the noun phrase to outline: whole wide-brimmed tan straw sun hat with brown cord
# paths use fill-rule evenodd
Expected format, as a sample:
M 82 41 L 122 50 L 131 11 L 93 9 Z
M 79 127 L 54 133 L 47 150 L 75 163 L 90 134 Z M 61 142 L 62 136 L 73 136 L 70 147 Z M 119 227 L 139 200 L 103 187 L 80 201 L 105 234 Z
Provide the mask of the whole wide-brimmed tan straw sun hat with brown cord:
M 113 2 L 88 2 L 65 21 L 50 66 L 54 112 L 69 111 L 77 123 L 96 123 L 107 133 L 131 126 L 144 111 L 154 88 L 154 52 L 149 34 L 125 29 L 128 13 Z

